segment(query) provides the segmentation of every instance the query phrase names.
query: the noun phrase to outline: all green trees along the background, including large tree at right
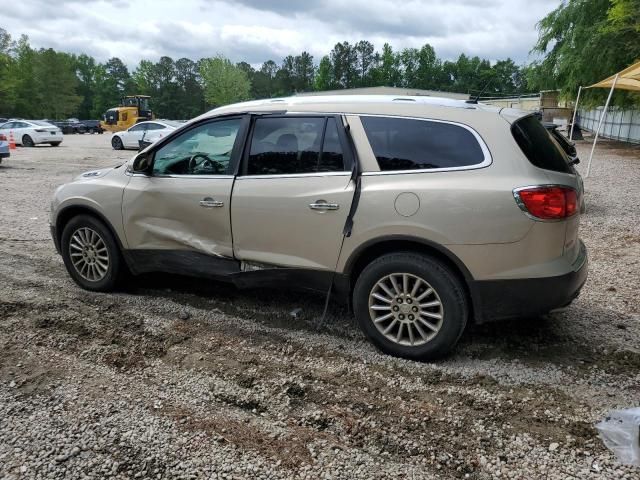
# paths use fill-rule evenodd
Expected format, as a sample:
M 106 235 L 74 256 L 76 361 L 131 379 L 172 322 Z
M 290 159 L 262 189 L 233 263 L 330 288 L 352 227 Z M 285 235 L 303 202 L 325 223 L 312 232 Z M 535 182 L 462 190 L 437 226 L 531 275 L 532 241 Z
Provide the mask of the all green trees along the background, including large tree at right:
M 0 116 L 99 118 L 123 95 L 151 95 L 158 117 L 187 119 L 212 107 L 296 92 L 395 86 L 484 96 L 560 89 L 573 98 L 589 85 L 640 59 L 640 0 L 566 0 L 537 25 L 532 52 L 517 65 L 459 55 L 443 60 L 434 48 L 380 51 L 366 40 L 340 42 L 315 61 L 308 52 L 254 67 L 212 58 L 142 60 L 130 70 L 119 58 L 104 63 L 86 54 L 35 49 L 26 36 L 14 40 L 0 28 Z M 587 91 L 587 103 L 606 92 Z M 640 95 L 619 94 L 617 104 Z

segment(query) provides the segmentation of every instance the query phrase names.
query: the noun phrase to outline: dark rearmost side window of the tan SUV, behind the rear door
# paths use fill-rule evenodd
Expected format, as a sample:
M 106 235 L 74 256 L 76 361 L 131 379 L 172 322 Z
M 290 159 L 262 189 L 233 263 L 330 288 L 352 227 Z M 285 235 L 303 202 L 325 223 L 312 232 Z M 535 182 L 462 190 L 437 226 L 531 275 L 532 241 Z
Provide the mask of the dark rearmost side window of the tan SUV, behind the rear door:
M 475 135 L 459 125 L 389 117 L 361 121 L 382 171 L 460 168 L 485 159 Z

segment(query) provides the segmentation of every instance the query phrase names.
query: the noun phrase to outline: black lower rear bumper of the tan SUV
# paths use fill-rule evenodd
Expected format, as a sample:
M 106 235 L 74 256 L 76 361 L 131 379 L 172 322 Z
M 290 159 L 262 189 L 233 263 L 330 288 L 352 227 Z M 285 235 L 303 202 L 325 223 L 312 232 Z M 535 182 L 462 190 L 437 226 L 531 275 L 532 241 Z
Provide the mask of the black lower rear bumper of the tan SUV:
M 587 249 L 580 253 L 569 273 L 556 277 L 472 282 L 477 323 L 517 317 L 534 317 L 570 304 L 587 280 Z

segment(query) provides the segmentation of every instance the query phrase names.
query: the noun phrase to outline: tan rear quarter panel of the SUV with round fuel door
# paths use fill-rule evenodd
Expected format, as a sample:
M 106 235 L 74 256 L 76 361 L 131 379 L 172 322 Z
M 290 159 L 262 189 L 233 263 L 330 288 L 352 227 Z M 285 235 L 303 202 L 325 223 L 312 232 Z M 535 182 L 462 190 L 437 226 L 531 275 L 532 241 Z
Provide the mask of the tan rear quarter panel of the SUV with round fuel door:
M 339 261 L 341 271 L 360 245 L 394 235 L 415 237 L 446 247 L 468 264 L 474 278 L 500 276 L 505 271 L 517 270 L 521 263 L 561 255 L 564 227 L 555 225 L 547 228 L 555 239 L 554 245 L 532 252 L 531 258 L 527 259 L 527 254 L 523 256 L 526 246 L 520 242 L 538 222 L 520 210 L 513 189 L 549 183 L 549 178 L 523 158 L 511 136 L 510 124 L 495 113 L 478 115 L 479 112 L 473 112 L 475 117 L 465 117 L 466 112 L 455 113 L 454 121 L 471 127 L 482 138 L 491 155 L 490 165 L 457 171 L 376 172 L 379 170 L 377 161 L 371 148 L 367 147 L 368 140 L 361 123 L 357 118 L 348 117 L 361 165 L 368 171 L 362 176 L 353 233 L 344 242 Z M 417 211 L 411 216 L 403 216 L 396 208 L 398 196 L 404 193 L 414 194 L 419 202 Z M 489 245 L 493 250 L 485 248 Z M 535 242 L 528 245 L 536 247 Z M 503 259 L 501 252 L 505 253 Z M 518 255 L 523 260 L 514 263 Z

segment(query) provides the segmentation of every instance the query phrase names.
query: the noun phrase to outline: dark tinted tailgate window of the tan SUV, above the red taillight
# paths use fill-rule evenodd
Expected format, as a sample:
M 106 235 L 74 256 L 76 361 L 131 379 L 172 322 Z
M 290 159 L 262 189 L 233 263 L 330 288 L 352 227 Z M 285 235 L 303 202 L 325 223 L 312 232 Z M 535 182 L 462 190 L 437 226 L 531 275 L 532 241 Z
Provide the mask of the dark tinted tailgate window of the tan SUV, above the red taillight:
M 571 173 L 561 148 L 534 116 L 521 118 L 511 126 L 511 133 L 527 159 L 538 168 Z

